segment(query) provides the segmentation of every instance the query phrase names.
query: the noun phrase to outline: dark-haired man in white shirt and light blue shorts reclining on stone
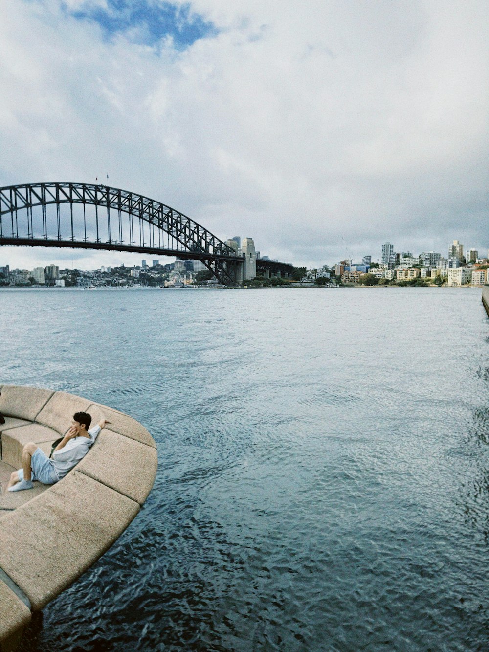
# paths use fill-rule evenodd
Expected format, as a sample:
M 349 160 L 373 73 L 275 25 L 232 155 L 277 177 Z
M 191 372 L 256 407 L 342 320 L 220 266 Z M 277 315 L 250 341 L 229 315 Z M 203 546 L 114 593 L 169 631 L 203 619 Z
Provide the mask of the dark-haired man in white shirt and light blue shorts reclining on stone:
M 110 423 L 107 419 L 102 419 L 88 430 L 91 422 L 89 414 L 76 412 L 70 430 L 54 449 L 52 459 L 32 441 L 25 444 L 22 449 L 22 469 L 10 475 L 8 491 L 32 489 L 35 480 L 43 484 L 54 484 L 64 478 L 87 454 L 105 424 Z

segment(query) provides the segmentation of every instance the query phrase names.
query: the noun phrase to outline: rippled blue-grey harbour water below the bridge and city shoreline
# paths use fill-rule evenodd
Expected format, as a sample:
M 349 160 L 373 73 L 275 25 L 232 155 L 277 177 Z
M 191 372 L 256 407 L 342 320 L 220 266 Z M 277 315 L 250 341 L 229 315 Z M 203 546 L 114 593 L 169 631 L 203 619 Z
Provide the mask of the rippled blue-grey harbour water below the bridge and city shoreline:
M 479 290 L 5 289 L 0 308 L 0 383 L 126 411 L 159 459 L 24 651 L 489 649 Z

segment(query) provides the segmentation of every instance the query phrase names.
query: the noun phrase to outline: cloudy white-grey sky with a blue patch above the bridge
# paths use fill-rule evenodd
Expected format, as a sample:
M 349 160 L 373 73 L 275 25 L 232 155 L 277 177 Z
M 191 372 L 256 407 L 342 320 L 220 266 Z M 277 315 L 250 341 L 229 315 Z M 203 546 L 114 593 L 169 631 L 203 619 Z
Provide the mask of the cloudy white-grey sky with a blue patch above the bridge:
M 7 0 L 0 87 L 0 186 L 108 175 L 307 267 L 489 248 L 486 0 Z

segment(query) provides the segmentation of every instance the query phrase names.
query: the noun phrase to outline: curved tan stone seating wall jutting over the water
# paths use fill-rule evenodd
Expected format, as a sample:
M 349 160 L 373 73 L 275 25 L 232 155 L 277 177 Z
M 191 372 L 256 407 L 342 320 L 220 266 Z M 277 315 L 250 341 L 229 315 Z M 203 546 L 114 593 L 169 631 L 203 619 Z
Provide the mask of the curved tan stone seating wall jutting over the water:
M 15 649 L 31 610 L 42 609 L 123 533 L 156 476 L 156 444 L 138 422 L 86 398 L 0 385 L 0 652 Z M 83 460 L 57 484 L 7 492 L 33 441 L 50 454 L 75 412 L 108 419 Z M 80 510 L 80 505 L 83 510 Z

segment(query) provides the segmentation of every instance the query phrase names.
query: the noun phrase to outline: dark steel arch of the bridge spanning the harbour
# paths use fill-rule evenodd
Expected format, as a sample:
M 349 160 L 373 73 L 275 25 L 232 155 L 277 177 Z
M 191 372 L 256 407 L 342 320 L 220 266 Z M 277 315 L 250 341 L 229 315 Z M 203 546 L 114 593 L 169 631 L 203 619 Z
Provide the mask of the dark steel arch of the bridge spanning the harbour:
M 201 260 L 223 284 L 239 280 L 243 263 L 235 250 L 180 211 L 141 194 L 89 183 L 0 188 L 0 244 Z

